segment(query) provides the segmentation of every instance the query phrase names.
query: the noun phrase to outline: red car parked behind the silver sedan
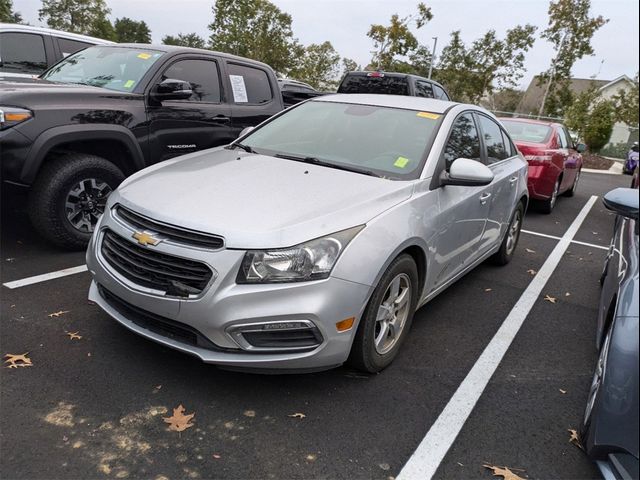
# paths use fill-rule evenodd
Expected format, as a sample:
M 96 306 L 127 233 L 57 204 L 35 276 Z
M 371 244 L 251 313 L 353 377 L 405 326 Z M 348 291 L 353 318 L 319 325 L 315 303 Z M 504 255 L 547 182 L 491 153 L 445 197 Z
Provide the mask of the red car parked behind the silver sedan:
M 581 152 L 586 145 L 574 144 L 560 123 L 521 118 L 501 118 L 518 150 L 529 163 L 529 196 L 540 210 L 551 213 L 561 194 L 573 196 L 582 169 Z

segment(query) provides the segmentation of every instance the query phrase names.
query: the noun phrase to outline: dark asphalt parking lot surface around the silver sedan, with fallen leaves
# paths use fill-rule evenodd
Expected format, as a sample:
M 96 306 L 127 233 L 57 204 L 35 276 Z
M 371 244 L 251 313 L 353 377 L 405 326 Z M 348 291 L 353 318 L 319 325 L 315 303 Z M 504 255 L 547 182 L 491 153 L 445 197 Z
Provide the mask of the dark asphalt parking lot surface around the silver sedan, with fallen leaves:
M 600 197 L 628 183 L 585 173 L 551 215 L 529 212 L 514 260 L 480 266 L 419 310 L 400 355 L 373 376 L 205 365 L 89 304 L 86 272 L 3 285 L 2 355 L 29 352 L 33 366 L 2 369 L 2 477 L 396 477 L 597 195 L 435 478 L 491 478 L 483 464 L 528 478 L 599 478 L 568 429 L 578 428 L 596 360 L 598 278 L 613 228 Z M 19 193 L 2 203 L 3 284 L 84 263 L 33 233 Z M 195 426 L 167 431 L 162 417 L 180 404 Z

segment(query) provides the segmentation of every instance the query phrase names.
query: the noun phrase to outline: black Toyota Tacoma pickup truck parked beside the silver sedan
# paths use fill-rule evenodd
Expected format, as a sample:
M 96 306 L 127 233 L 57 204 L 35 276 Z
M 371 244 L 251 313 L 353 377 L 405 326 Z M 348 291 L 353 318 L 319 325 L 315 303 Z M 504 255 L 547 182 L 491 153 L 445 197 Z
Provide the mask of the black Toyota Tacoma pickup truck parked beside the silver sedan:
M 126 176 L 228 144 L 283 108 L 263 63 L 166 45 L 90 47 L 39 78 L 0 78 L 2 180 L 30 189 L 44 237 L 81 248 Z

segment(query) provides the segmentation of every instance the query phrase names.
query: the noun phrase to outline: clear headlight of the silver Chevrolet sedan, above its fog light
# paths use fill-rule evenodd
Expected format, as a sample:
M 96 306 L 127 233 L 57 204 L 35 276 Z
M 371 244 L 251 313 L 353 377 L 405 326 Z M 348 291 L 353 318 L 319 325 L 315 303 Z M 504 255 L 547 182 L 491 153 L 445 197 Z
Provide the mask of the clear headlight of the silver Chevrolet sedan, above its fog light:
M 237 282 L 304 282 L 327 278 L 344 248 L 363 228 L 364 225 L 359 225 L 291 248 L 249 250 Z

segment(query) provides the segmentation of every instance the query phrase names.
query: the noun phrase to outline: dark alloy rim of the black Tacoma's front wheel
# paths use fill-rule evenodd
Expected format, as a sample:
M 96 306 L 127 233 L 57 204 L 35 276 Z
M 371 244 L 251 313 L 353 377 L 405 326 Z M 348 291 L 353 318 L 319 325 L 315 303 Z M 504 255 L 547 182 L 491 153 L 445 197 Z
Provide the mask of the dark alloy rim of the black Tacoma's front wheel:
M 65 200 L 65 213 L 73 228 L 93 232 L 110 193 L 109 184 L 96 178 L 85 178 L 73 185 Z

